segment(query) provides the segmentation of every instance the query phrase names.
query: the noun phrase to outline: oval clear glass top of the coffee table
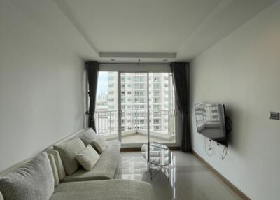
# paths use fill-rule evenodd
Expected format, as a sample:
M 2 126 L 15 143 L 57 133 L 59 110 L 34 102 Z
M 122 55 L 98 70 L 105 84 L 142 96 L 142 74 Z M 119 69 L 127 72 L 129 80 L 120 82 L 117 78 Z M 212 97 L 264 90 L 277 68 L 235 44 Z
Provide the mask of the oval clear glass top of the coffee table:
M 172 151 L 166 145 L 151 142 L 144 144 L 141 153 L 147 162 L 158 166 L 167 166 L 172 162 Z

